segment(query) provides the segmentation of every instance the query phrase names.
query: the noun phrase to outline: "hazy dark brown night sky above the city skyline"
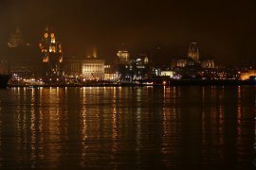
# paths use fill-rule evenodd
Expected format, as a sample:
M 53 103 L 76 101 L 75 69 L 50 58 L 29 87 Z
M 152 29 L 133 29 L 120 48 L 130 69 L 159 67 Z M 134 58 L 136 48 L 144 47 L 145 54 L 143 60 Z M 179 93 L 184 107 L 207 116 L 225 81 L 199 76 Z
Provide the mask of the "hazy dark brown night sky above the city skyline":
M 169 61 L 196 41 L 202 58 L 255 65 L 255 0 L 1 0 L 0 22 L 1 42 L 18 25 L 37 43 L 51 26 L 67 56 L 97 44 L 102 59 L 114 59 L 124 43 L 132 52 L 160 46 L 160 60 Z

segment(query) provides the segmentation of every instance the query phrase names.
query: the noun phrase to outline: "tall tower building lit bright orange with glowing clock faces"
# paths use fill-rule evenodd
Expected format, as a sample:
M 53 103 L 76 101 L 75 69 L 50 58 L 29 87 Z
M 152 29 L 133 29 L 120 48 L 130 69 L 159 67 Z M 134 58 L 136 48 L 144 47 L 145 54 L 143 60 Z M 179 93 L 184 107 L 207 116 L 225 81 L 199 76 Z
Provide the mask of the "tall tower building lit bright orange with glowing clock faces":
M 59 83 L 64 77 L 63 71 L 63 47 L 58 42 L 55 33 L 47 26 L 39 43 L 41 49 L 42 62 L 44 64 L 44 81 L 46 83 Z

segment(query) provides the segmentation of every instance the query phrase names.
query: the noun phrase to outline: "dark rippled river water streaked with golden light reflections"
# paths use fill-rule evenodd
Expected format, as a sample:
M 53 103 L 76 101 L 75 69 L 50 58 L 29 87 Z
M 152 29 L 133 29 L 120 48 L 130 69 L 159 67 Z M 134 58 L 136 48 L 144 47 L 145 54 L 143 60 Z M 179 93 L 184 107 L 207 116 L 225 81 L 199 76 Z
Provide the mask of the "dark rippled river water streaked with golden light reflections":
M 253 169 L 256 86 L 0 90 L 0 169 Z

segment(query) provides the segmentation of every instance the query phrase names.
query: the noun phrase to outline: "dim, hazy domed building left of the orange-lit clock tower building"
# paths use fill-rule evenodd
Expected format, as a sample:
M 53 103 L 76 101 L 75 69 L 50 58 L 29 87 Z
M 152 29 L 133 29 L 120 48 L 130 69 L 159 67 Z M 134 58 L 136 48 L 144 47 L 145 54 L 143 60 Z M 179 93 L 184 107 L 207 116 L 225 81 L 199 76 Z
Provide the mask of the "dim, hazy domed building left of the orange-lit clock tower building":
M 0 62 L 5 72 L 19 79 L 40 78 L 40 53 L 36 46 L 25 42 L 19 27 L 10 33 L 9 40 L 1 46 Z

